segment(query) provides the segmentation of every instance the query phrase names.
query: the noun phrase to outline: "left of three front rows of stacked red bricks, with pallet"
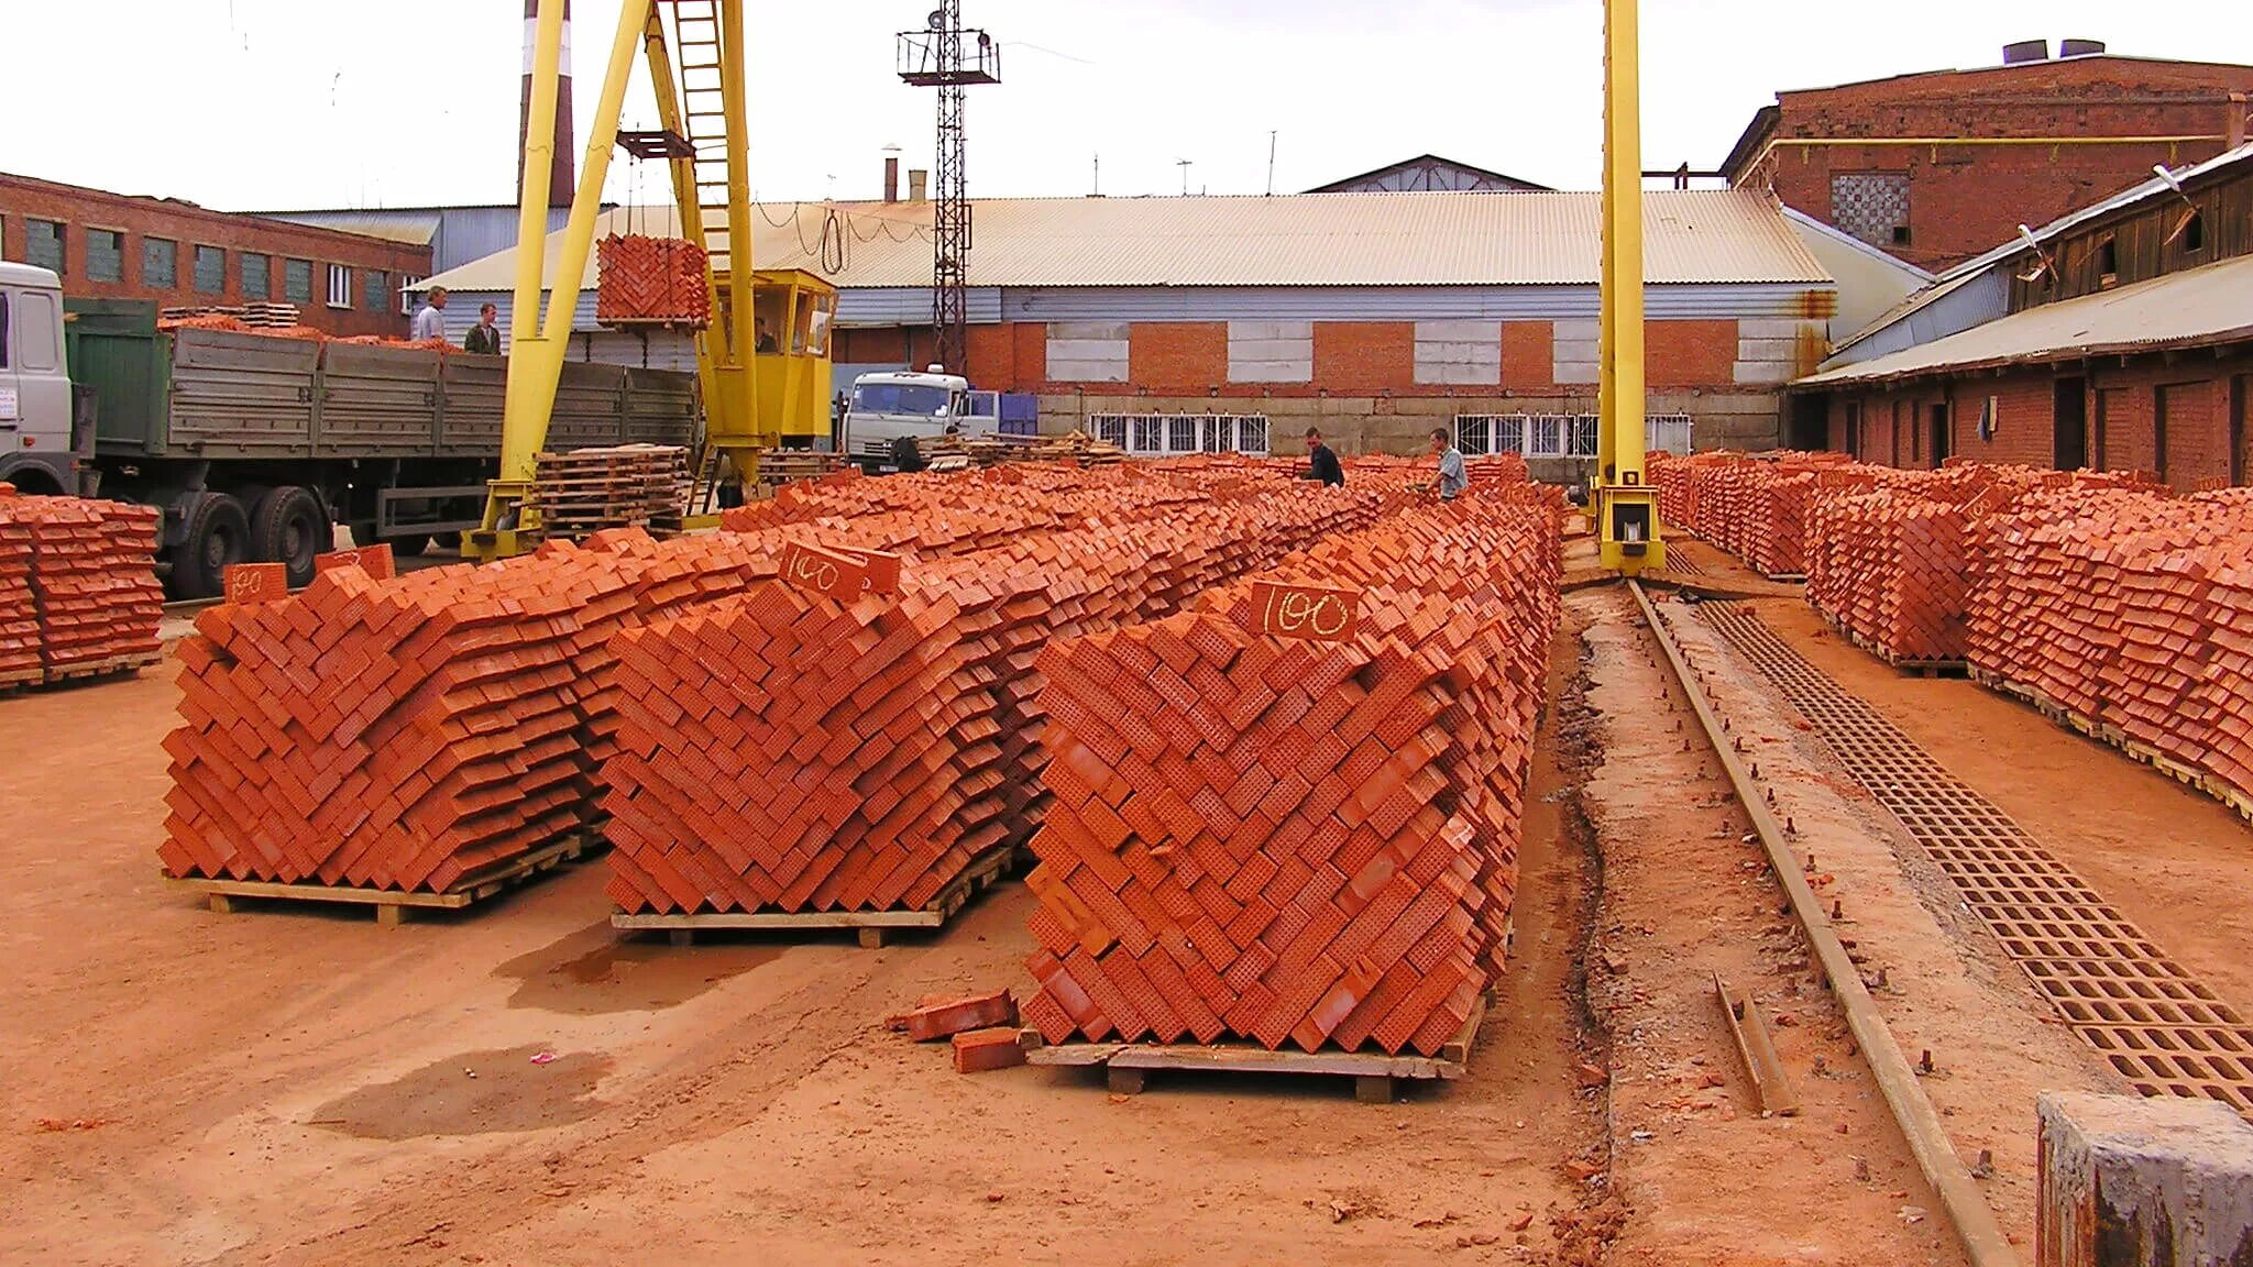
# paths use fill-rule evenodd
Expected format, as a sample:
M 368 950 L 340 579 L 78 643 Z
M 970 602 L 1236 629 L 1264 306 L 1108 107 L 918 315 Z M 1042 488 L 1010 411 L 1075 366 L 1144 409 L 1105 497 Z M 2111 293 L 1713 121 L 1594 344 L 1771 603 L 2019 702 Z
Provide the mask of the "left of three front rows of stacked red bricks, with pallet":
M 802 489 L 730 512 L 734 532 L 606 530 L 406 577 L 324 568 L 297 595 L 205 611 L 180 645 L 164 875 L 219 909 L 302 897 L 397 922 L 410 906 L 473 904 L 599 843 L 622 629 L 741 595 L 793 546 L 942 559 L 1032 539 L 1068 514 L 1212 500 L 1156 480 L 1117 480 L 1104 512 L 1050 510 L 1041 503 L 1081 494 L 978 476 Z M 1383 503 L 1363 489 L 1325 514 Z M 1286 525 L 1293 512 L 1246 514 Z

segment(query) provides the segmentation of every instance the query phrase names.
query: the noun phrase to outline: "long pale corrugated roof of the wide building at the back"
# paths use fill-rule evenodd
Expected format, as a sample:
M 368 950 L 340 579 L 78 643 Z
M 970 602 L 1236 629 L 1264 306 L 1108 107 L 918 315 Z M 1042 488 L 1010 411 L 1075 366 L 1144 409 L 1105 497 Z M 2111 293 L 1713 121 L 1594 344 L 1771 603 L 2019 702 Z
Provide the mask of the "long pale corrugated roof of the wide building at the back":
M 1829 286 L 1766 194 L 1642 194 L 1654 284 Z M 930 203 L 777 203 L 757 210 L 759 268 L 838 286 L 928 286 Z M 597 232 L 674 232 L 669 207 L 620 207 Z M 1600 194 L 1289 194 L 1280 198 L 980 198 L 973 286 L 1496 286 L 1593 284 Z M 825 239 L 845 266 L 822 268 Z M 550 268 L 561 248 L 547 239 Z M 514 250 L 424 282 L 502 291 Z M 586 286 L 595 284 L 588 264 Z

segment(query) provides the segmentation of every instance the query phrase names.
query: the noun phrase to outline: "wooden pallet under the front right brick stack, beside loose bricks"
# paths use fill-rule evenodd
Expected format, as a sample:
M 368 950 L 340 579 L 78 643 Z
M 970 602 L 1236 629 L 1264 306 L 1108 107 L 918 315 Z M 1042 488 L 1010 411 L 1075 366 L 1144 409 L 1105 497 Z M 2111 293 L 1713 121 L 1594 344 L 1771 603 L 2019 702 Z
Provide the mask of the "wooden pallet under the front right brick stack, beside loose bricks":
M 1066 1069 L 1102 1066 L 1115 1096 L 1142 1091 L 1151 1069 L 1187 1069 L 1199 1073 L 1320 1073 L 1352 1078 L 1354 1098 L 1363 1105 L 1390 1105 L 1401 1080 L 1453 1082 L 1469 1073 L 1478 1026 L 1487 1019 L 1487 996 L 1440 1055 L 1386 1055 L 1381 1051 L 1268 1051 L 1248 1042 L 1156 1044 L 1156 1042 L 1068 1042 L 1050 1046 L 1041 1030 L 1021 1030 L 1025 1064 Z

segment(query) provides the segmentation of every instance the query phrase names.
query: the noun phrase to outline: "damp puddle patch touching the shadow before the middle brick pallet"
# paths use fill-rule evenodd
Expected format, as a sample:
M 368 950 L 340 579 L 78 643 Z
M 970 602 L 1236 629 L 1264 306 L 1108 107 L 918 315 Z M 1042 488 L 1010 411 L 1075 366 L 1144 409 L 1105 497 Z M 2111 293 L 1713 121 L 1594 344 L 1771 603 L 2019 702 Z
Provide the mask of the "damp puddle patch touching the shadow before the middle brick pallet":
M 741 942 L 674 947 L 658 940 L 622 940 L 604 920 L 502 963 L 493 976 L 520 981 L 509 994 L 509 1008 L 541 1008 L 575 1017 L 656 1012 L 687 1003 L 762 963 L 773 963 L 784 949 L 789 947 Z

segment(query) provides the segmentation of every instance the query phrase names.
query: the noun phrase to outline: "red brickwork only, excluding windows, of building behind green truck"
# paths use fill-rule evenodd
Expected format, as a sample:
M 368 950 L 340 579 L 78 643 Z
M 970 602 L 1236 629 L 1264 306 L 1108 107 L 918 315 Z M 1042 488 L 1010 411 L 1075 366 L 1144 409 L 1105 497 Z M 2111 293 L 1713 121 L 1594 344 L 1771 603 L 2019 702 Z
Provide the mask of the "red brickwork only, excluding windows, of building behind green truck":
M 297 320 L 329 334 L 385 334 L 403 336 L 408 320 L 399 313 L 397 291 L 408 277 L 430 275 L 430 248 L 383 241 L 286 221 L 259 216 L 234 216 L 210 212 L 192 203 L 164 198 L 128 198 L 101 189 L 77 185 L 54 185 L 25 176 L 0 174 L 0 259 L 27 259 L 25 221 L 63 223 L 63 293 L 74 298 L 106 300 L 155 300 L 162 307 L 182 304 L 241 304 L 243 298 L 243 252 L 273 257 L 270 302 L 293 302 L 282 291 L 284 259 L 304 259 L 313 266 L 313 298 L 295 300 Z M 124 234 L 122 280 L 95 282 L 86 275 L 86 230 L 115 230 Z M 146 286 L 142 282 L 144 239 L 160 237 L 176 243 L 173 284 Z M 196 291 L 196 248 L 216 246 L 225 250 L 225 286 L 221 293 Z M 331 309 L 329 264 L 351 268 L 351 307 Z M 365 271 L 376 268 L 388 275 L 392 298 L 381 311 L 365 307 Z

